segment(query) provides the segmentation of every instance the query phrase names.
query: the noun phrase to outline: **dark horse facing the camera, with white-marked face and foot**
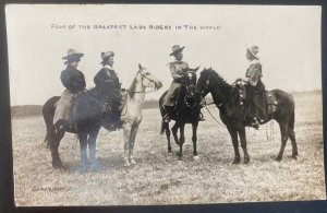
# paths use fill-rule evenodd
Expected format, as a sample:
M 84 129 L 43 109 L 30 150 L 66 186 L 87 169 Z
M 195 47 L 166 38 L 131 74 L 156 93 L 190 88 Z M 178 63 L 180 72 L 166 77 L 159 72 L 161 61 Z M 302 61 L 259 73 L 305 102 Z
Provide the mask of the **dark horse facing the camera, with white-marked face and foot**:
M 187 70 L 185 74 L 186 79 L 184 80 L 180 91 L 178 91 L 179 97 L 177 98 L 175 110 L 173 115 L 171 115 L 171 119 L 175 121 L 173 127 L 171 128 L 171 131 L 175 143 L 180 146 L 180 152 L 178 153 L 180 161 L 182 158 L 182 147 L 185 141 L 184 127 L 186 123 L 192 125 L 193 156 L 194 159 L 198 158 L 197 151 L 196 151 L 196 140 L 197 140 L 196 130 L 198 126 L 198 116 L 199 116 L 201 107 L 199 107 L 199 95 L 195 91 L 195 86 L 196 86 L 195 72 L 197 70 L 198 68 Z M 169 123 L 164 122 L 164 117 L 167 114 L 164 107 L 165 96 L 167 92 L 168 91 L 166 91 L 159 99 L 159 108 L 162 117 L 160 133 L 162 134 L 166 131 L 166 135 L 168 140 L 168 152 L 171 153 Z M 180 129 L 180 139 L 178 138 L 179 129 Z

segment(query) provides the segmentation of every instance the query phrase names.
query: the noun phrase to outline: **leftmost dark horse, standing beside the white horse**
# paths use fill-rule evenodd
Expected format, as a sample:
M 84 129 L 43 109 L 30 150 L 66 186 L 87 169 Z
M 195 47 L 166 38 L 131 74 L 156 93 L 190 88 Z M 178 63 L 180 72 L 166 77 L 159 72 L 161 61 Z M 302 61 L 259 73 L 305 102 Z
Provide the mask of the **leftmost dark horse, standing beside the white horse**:
M 58 147 L 64 133 L 71 132 L 77 133 L 80 139 L 80 169 L 86 169 L 87 145 L 89 149 L 90 169 L 97 169 L 96 139 L 101 126 L 108 128 L 108 120 L 105 120 L 106 113 L 102 113 L 102 106 L 105 100 L 108 99 L 108 96 L 114 95 L 112 86 L 113 85 L 108 82 L 108 84 L 96 86 L 90 91 L 78 93 L 74 99 L 71 113 L 71 116 L 76 123 L 62 129 L 56 128 L 56 126 L 59 127 L 61 125 L 60 122 L 64 122 L 64 120 L 59 120 L 56 126 L 53 125 L 55 110 L 60 96 L 53 96 L 45 103 L 43 108 L 43 115 L 47 126 L 45 141 L 48 142 L 47 145 L 50 146 L 51 150 L 53 168 L 63 168 Z

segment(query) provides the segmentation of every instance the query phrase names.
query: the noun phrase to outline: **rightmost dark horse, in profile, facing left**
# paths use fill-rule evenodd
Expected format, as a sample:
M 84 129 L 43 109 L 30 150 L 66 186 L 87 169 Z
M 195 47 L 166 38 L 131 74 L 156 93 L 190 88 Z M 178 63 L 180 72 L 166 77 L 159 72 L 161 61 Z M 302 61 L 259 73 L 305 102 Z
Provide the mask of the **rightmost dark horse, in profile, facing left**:
M 234 90 L 234 86 L 226 83 L 225 80 L 211 69 L 202 71 L 196 90 L 203 96 L 206 96 L 208 93 L 211 94 L 214 103 L 220 111 L 220 118 L 226 125 L 232 139 L 235 154 L 233 164 L 240 163 L 238 134 L 240 135 L 241 146 L 244 153 L 244 164 L 247 164 L 250 162 L 245 137 L 245 126 L 247 126 L 247 122 L 244 121 L 243 118 L 243 110 L 240 105 L 238 90 Z M 271 119 L 275 119 L 279 123 L 281 146 L 276 159 L 281 161 L 288 138 L 292 141 L 292 157 L 296 158 L 298 147 L 294 133 L 294 99 L 292 95 L 280 90 L 274 90 L 268 93 L 271 97 L 276 98 L 276 110 L 269 111 L 268 119 L 263 123 L 268 122 Z

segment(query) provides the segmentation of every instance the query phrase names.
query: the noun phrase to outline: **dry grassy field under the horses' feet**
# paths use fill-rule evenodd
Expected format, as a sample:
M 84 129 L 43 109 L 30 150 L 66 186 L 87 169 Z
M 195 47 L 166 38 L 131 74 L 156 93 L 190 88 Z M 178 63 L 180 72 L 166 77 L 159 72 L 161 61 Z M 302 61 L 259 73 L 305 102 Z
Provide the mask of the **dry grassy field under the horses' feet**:
M 298 161 L 288 141 L 282 162 L 277 122 L 247 130 L 249 165 L 232 165 L 233 149 L 226 128 L 203 109 L 198 127 L 199 161 L 192 158 L 191 126 L 186 126 L 183 161 L 167 153 L 159 135 L 158 109 L 144 109 L 135 143 L 136 165 L 123 167 L 122 131 L 100 131 L 98 173 L 80 174 L 80 146 L 65 134 L 60 154 L 65 171 L 51 167 L 43 144 L 41 117 L 13 118 L 13 169 L 16 205 L 134 205 L 228 203 L 325 199 L 322 93 L 296 93 Z M 218 118 L 218 109 L 209 109 Z M 220 120 L 220 119 L 218 119 Z M 267 139 L 267 135 L 269 140 Z M 178 146 L 173 143 L 173 151 Z M 242 152 L 241 152 L 242 153 Z

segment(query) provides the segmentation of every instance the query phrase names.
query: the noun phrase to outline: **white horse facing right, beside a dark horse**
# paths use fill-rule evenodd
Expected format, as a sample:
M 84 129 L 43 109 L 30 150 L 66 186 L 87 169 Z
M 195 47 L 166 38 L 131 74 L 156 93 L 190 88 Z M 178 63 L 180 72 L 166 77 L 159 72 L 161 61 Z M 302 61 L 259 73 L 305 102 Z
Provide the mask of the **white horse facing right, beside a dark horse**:
M 128 90 L 128 97 L 122 106 L 121 121 L 123 123 L 124 135 L 124 166 L 135 164 L 133 149 L 138 126 L 143 118 L 142 108 L 145 98 L 145 90 L 147 87 L 158 90 L 162 86 L 162 83 L 154 78 L 154 75 L 141 64 L 138 64 L 138 69 L 136 76 Z

